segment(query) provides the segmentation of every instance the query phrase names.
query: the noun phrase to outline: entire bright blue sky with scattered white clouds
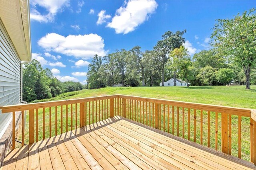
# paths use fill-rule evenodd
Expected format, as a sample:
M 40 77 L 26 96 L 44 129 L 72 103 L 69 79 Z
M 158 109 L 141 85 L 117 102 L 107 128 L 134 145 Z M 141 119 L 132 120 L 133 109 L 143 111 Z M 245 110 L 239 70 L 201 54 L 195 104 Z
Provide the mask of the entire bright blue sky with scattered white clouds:
M 59 80 L 85 84 L 95 53 L 136 45 L 152 50 L 164 32 L 186 29 L 184 46 L 192 56 L 209 49 L 216 19 L 253 7 L 253 0 L 30 0 L 32 57 Z

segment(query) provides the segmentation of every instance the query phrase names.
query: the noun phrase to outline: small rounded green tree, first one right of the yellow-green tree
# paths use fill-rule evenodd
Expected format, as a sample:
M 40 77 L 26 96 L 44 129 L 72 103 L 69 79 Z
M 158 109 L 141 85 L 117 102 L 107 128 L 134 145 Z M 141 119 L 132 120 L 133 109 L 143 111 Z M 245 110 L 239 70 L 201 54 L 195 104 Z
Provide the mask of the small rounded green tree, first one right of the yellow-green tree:
M 200 80 L 202 85 L 210 85 L 214 82 L 216 78 L 216 69 L 211 66 L 206 66 L 200 69 L 197 78 Z

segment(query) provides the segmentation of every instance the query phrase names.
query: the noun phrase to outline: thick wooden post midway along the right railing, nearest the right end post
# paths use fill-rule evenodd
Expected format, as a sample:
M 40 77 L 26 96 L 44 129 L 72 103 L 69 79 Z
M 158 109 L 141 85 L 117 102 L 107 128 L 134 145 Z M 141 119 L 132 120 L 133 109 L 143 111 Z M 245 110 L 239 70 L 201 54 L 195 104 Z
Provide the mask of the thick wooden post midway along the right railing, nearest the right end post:
M 221 113 L 221 151 L 228 153 L 228 114 Z

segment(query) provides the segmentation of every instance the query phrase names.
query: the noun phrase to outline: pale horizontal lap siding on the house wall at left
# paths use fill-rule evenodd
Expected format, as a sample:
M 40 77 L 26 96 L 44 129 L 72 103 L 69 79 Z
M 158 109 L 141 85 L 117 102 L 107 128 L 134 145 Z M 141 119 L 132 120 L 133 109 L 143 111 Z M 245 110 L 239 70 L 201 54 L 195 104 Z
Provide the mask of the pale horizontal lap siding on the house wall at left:
M 0 21 L 0 106 L 20 104 L 20 58 Z M 12 117 L 0 111 L 0 132 Z M 0 136 L 1 137 L 1 136 Z

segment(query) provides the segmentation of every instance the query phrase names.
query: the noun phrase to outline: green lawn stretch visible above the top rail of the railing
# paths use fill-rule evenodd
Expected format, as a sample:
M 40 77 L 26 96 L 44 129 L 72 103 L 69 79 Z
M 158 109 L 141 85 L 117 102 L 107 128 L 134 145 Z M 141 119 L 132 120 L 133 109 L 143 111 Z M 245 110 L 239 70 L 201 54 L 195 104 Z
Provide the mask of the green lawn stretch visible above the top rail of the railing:
M 125 94 L 148 98 L 178 100 L 222 106 L 245 107 L 256 109 L 256 86 L 253 90 L 245 90 L 245 86 L 190 86 L 187 87 L 107 87 L 95 90 L 81 90 L 62 94 L 50 100 L 67 100 L 104 96 L 111 94 Z M 73 95 L 73 96 L 68 96 Z

